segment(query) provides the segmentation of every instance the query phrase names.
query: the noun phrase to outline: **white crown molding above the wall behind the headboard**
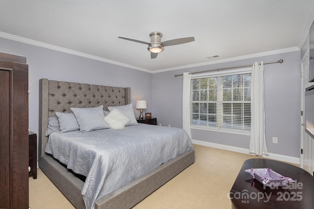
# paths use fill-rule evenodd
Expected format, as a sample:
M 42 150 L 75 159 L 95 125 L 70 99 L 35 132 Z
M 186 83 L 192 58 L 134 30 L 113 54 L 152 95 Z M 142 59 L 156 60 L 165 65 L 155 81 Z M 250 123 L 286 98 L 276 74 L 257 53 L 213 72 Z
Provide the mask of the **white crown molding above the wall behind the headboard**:
M 113 61 L 113 60 L 108 60 L 108 59 L 105 59 L 105 58 L 102 58 L 102 57 L 93 56 L 93 55 L 90 55 L 90 54 L 82 53 L 82 52 L 71 50 L 71 49 L 68 49 L 68 48 L 63 48 L 63 47 L 59 47 L 59 46 L 46 44 L 46 43 L 43 43 L 43 42 L 34 41 L 34 40 L 31 40 L 31 39 L 26 39 L 26 38 L 23 38 L 23 37 L 20 37 L 20 36 L 16 36 L 16 35 L 12 35 L 12 34 L 8 34 L 8 33 L 0 32 L 0 37 L 1 38 L 5 38 L 5 39 L 9 39 L 9 40 L 13 40 L 13 41 L 17 41 L 17 42 L 22 42 L 22 43 L 29 44 L 29 45 L 49 48 L 49 49 L 52 49 L 52 50 L 61 51 L 61 52 L 64 52 L 64 53 L 73 54 L 73 55 L 77 55 L 77 56 L 80 56 L 80 57 L 85 57 L 85 58 L 88 58 L 88 59 L 93 59 L 93 60 L 97 60 L 97 61 L 101 61 L 101 62 L 105 62 L 105 63 L 110 63 L 110 64 L 113 64 L 113 65 L 118 65 L 118 66 L 122 66 L 122 67 L 126 67 L 126 68 L 131 68 L 131 69 L 134 69 L 134 70 L 141 70 L 141 71 L 145 71 L 145 72 L 151 72 L 151 70 L 147 70 L 147 69 L 144 69 L 144 68 L 138 68 L 136 66 L 132 66 L 132 65 L 116 62 L 116 61 Z

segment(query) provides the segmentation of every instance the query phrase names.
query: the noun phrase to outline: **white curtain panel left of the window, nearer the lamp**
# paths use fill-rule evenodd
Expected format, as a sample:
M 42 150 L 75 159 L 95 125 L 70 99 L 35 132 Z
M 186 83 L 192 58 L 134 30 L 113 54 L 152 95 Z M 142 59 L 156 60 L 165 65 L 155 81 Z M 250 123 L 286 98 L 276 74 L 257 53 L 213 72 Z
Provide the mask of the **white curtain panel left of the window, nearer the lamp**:
M 191 74 L 183 72 L 183 96 L 182 96 L 182 110 L 183 110 L 183 129 L 191 138 L 190 129 L 190 90 L 191 90 Z

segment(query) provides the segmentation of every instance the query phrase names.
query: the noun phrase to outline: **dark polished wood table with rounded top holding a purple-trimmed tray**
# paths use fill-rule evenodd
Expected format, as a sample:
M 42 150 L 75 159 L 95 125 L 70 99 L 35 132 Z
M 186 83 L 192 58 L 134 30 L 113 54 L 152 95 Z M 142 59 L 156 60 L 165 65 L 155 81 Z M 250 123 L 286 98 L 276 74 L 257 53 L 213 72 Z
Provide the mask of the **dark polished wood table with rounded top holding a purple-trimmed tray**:
M 272 168 L 292 178 L 287 186 L 264 186 L 244 170 Z M 246 160 L 230 190 L 232 209 L 314 209 L 314 177 L 294 165 L 267 159 Z

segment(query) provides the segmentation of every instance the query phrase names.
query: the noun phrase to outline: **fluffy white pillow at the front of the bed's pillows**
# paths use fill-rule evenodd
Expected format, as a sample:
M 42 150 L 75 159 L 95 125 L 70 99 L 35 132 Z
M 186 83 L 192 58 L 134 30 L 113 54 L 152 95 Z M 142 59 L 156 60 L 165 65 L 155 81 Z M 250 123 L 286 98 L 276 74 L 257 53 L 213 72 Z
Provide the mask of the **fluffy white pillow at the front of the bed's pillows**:
M 122 129 L 130 122 L 130 119 L 118 109 L 113 109 L 105 116 L 105 121 L 112 129 Z

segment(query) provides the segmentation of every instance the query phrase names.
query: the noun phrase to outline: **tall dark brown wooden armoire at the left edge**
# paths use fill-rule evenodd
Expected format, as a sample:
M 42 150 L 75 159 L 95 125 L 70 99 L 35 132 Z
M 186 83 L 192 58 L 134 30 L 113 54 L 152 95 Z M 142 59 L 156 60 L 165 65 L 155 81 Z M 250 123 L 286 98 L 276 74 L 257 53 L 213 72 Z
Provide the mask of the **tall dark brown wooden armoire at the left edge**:
M 28 65 L 0 53 L 0 208 L 28 209 Z

